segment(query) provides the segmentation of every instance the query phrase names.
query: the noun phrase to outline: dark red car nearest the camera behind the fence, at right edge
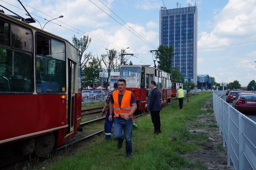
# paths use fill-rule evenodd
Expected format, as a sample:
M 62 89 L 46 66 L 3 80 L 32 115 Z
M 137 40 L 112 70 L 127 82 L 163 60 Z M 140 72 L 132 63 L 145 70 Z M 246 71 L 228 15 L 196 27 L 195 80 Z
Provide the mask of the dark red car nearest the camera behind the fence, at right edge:
M 256 113 L 256 94 L 255 93 L 238 93 L 233 100 L 232 106 L 239 112 Z

